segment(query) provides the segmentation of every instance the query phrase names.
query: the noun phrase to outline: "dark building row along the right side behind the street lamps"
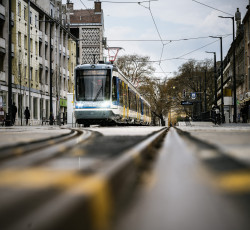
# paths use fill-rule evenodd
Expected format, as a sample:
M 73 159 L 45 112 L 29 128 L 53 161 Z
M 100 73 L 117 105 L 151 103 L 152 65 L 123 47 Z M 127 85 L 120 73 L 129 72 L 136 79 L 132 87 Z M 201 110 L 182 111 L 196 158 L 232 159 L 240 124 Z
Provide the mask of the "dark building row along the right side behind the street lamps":
M 233 122 L 234 117 L 234 79 L 233 79 L 233 51 L 235 47 L 235 78 L 236 78 L 236 121 L 243 122 L 242 106 L 246 100 L 248 91 L 248 76 L 246 74 L 246 41 L 245 25 L 241 22 L 239 9 L 235 14 L 236 37 L 232 42 L 223 61 L 223 99 L 224 99 L 224 118 L 226 123 Z M 218 78 L 218 105 L 221 105 L 221 76 Z M 246 122 L 244 120 L 244 122 Z

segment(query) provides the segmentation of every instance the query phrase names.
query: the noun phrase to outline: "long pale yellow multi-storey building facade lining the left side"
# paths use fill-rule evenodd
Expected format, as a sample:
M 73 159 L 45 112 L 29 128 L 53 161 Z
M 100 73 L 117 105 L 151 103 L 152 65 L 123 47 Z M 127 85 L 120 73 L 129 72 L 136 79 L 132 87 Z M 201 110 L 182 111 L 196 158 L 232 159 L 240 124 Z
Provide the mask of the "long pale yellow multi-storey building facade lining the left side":
M 67 92 L 73 91 L 72 69 L 76 66 L 76 38 L 69 30 L 66 6 L 61 0 L 31 0 L 30 6 L 28 2 L 12 0 L 14 55 L 11 71 L 12 101 L 18 108 L 16 124 L 24 123 L 26 107 L 30 110 L 31 124 L 41 124 L 50 115 L 66 119 Z M 5 59 L 0 73 L 7 72 Z M 7 113 L 8 83 L 3 81 L 2 75 L 2 107 Z

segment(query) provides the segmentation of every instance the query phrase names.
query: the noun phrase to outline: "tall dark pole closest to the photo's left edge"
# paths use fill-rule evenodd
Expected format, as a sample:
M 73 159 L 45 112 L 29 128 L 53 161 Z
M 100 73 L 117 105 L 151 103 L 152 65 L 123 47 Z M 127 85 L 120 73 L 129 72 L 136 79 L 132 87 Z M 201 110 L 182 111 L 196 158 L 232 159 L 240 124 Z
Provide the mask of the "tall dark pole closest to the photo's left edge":
M 8 55 L 8 115 L 9 115 L 9 123 L 8 125 L 12 125 L 12 26 L 11 26 L 11 1 L 9 1 L 9 55 Z

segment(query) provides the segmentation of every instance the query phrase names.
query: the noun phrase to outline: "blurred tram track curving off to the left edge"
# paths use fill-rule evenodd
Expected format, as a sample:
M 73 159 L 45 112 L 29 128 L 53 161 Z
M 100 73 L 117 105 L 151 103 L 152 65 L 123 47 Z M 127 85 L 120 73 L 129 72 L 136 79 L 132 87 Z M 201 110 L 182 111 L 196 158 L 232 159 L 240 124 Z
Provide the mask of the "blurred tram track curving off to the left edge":
M 0 148 L 0 169 L 38 164 L 88 139 L 90 131 L 70 129 L 69 133 Z

